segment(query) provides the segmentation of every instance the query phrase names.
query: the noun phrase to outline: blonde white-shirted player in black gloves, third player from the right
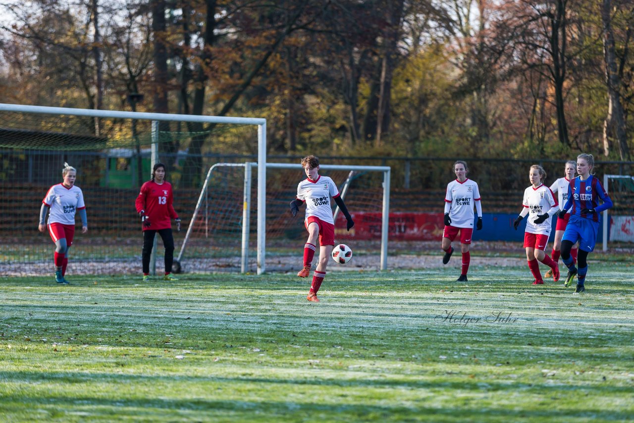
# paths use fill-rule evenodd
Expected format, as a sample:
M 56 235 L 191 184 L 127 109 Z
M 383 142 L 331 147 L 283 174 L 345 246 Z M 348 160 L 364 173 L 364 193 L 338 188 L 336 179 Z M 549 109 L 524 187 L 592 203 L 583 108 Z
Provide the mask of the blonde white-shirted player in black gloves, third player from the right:
M 528 268 L 533 273 L 535 280 L 533 285 L 543 285 L 540 265 L 537 261 L 546 264 L 552 269 L 553 280 L 559 280 L 559 266 L 548 254 L 545 253 L 548 237 L 550 236 L 550 218 L 559 212 L 559 204 L 553 192 L 543 184 L 546 179 L 546 171 L 538 164 L 531 166 L 528 175 L 531 186 L 524 190 L 524 200 L 522 201 L 522 211 L 515 218 L 513 227 L 517 230 L 519 223 L 528 215 L 526 222 L 526 232 L 524 232 L 524 248 L 526 249 L 526 260 Z

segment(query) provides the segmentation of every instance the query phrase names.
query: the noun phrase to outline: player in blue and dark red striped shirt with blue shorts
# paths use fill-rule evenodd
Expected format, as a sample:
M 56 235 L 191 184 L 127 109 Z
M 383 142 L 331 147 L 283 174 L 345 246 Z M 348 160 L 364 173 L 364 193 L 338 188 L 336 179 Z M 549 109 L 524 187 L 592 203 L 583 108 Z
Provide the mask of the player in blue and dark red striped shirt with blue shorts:
M 564 285 L 570 286 L 574 275 L 577 275 L 577 287 L 574 292 L 585 291 L 588 253 L 594 250 L 597 244 L 598 225 L 601 221 L 600 212 L 612 207 L 612 200 L 597 178 L 592 176 L 594 157 L 592 154 L 579 154 L 577 156 L 577 173 L 579 176 L 570 181 L 568 187 L 568 200 L 559 216 L 570 212 L 570 218 L 561 243 L 561 258 L 568 268 L 568 276 Z M 603 204 L 598 204 L 599 198 Z M 570 251 L 573 245 L 579 241 L 579 253 L 577 267 L 574 266 Z

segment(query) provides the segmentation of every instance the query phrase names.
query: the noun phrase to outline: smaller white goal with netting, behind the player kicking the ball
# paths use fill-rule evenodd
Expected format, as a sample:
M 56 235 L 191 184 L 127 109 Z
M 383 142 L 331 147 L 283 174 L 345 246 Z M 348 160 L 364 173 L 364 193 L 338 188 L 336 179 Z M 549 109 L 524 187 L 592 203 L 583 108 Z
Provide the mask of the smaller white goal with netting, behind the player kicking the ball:
M 301 265 L 301 247 L 306 238 L 304 212 L 292 217 L 288 202 L 295 198 L 297 183 L 306 178 L 300 164 L 266 163 L 266 192 L 254 188 L 254 169 L 259 164 L 217 163 L 209 168 L 177 260 L 186 271 L 240 270 L 257 268 L 290 271 Z M 339 192 L 353 215 L 355 227 L 346 231 L 345 219 L 335 209 L 335 241 L 346 242 L 360 255 L 387 269 L 389 224 L 389 166 L 321 165 L 321 174 L 339 184 Z M 259 172 L 258 172 L 259 177 Z M 266 198 L 264 244 L 256 245 L 257 259 L 250 257 L 254 247 L 251 234 L 252 198 Z M 377 245 L 378 244 L 378 245 Z M 380 249 L 380 257 L 376 251 Z M 354 260 L 353 260 L 354 262 Z M 352 265 L 352 264 L 351 264 Z

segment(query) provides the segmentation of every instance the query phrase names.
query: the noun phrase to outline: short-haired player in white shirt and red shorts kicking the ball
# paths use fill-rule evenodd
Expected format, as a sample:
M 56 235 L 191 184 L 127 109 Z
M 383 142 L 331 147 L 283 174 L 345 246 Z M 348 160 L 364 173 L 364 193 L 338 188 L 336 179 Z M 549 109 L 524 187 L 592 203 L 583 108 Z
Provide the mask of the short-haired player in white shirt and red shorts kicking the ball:
M 328 178 L 319 174 L 319 158 L 309 155 L 302 159 L 302 167 L 307 178 L 297 185 L 297 198 L 290 202 L 290 212 L 297 216 L 299 206 L 306 203 L 306 218 L 304 226 L 308 231 L 308 240 L 304 245 L 304 268 L 297 273 L 300 278 L 306 278 L 311 271 L 311 263 L 316 251 L 317 238 L 319 238 L 320 251 L 319 262 L 313 273 L 313 283 L 306 299 L 318 303 L 317 291 L 320 289 L 323 278 L 326 277 L 328 259 L 335 245 L 335 221 L 332 215 L 330 197 L 335 200 L 341 212 L 346 216 L 347 230 L 354 226 L 344 200 L 339 195 L 337 185 Z

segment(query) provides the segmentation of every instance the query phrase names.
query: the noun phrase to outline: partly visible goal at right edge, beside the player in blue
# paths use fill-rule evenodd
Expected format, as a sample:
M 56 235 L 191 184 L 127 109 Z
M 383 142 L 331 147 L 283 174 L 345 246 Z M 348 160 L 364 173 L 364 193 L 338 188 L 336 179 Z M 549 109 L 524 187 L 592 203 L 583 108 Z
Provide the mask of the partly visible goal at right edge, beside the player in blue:
M 634 176 L 604 175 L 603 186 L 614 206 L 603 212 L 603 251 L 608 240 L 634 242 Z

